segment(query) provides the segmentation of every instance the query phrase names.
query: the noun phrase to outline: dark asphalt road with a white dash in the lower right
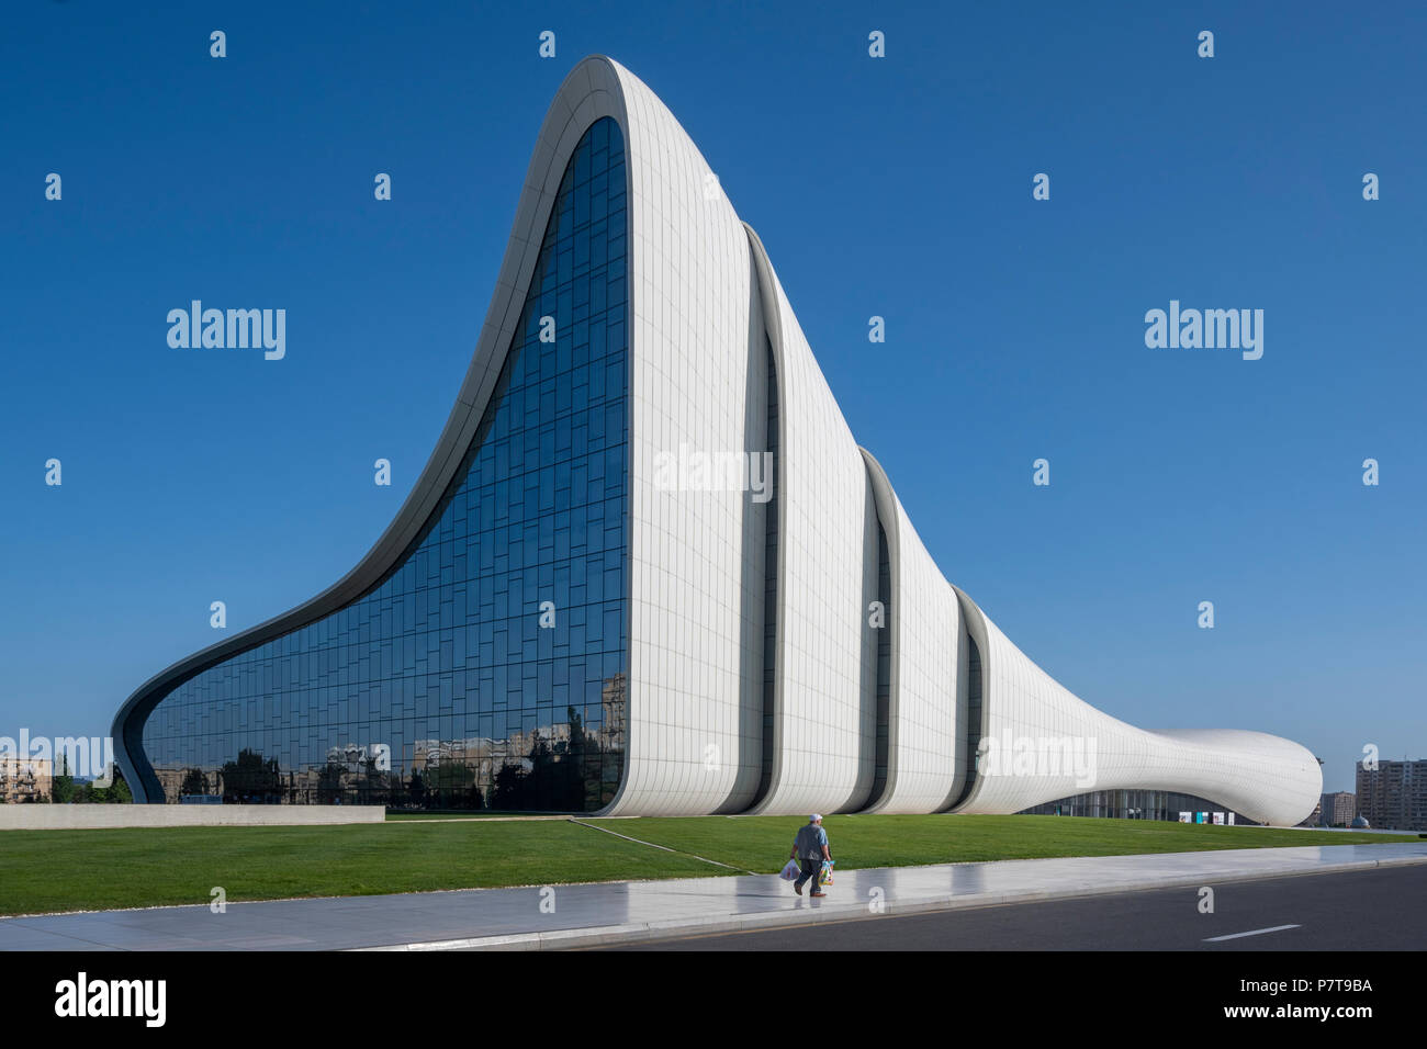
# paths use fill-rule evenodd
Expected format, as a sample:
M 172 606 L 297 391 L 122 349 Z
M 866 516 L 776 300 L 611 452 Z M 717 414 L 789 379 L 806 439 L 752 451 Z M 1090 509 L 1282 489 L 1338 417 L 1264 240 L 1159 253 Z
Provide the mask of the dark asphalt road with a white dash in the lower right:
M 1427 865 L 681 936 L 608 951 L 1424 951 Z M 832 892 L 833 889 L 829 889 Z M 1291 928 L 1280 928 L 1291 926 Z M 1251 935 L 1243 935 L 1251 933 Z M 1230 939 L 1216 939 L 1230 938 Z

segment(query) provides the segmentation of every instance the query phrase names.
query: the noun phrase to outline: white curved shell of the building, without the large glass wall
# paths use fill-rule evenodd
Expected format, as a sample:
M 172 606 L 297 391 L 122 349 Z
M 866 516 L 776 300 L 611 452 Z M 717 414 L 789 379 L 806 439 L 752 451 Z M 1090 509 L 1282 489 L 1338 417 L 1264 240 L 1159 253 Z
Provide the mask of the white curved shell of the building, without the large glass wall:
M 669 110 L 604 57 L 549 107 L 469 371 L 397 520 L 334 587 L 123 705 L 117 756 L 137 799 L 163 796 L 141 734 L 166 695 L 370 594 L 432 518 L 479 440 L 567 166 L 606 117 L 626 157 L 629 485 L 626 741 L 605 814 L 990 814 L 1144 788 L 1257 822 L 1309 815 L 1321 775 L 1304 748 L 1102 714 L 946 581 L 858 447 L 758 235 Z M 671 481 L 689 455 L 771 464 L 772 498 Z

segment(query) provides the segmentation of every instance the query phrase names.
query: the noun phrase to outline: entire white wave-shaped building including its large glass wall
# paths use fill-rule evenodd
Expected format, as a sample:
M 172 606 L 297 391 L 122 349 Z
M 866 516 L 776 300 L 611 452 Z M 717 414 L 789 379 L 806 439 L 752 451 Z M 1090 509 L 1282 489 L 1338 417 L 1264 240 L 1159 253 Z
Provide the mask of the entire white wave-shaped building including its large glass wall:
M 1149 789 L 1293 825 L 1321 791 L 1297 744 L 1096 711 L 943 578 L 758 235 L 604 57 L 551 104 L 397 520 L 328 591 L 146 682 L 114 735 L 144 801 L 1017 812 Z

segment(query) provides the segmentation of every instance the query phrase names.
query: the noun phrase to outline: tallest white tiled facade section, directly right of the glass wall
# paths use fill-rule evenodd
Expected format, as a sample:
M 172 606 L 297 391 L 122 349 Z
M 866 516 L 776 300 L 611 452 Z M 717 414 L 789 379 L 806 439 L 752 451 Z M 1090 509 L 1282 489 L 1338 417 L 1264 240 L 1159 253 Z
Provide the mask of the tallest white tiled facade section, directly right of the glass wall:
M 762 585 L 745 577 L 761 572 L 762 507 L 682 467 L 748 450 L 748 238 L 664 103 L 606 64 L 631 188 L 632 597 L 625 782 L 608 812 L 743 808 L 761 768 Z

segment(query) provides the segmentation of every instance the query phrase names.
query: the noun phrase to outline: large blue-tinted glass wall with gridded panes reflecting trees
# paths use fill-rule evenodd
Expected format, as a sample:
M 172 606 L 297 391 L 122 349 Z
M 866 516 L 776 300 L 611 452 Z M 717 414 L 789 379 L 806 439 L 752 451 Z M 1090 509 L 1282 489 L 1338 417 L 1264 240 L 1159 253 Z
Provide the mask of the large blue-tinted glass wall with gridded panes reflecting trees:
M 365 597 L 154 708 L 143 748 L 166 801 L 592 811 L 614 796 L 629 671 L 625 187 L 619 127 L 599 120 L 425 531 Z

